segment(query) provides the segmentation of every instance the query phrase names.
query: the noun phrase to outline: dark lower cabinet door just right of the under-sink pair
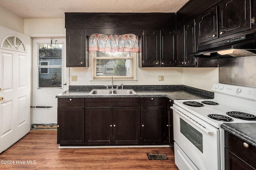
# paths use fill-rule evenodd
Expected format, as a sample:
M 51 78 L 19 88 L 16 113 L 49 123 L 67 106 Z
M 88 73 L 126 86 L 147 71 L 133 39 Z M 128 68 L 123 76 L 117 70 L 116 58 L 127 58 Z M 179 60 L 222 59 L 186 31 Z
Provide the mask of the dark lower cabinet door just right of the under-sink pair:
M 141 143 L 162 144 L 163 106 L 141 107 Z

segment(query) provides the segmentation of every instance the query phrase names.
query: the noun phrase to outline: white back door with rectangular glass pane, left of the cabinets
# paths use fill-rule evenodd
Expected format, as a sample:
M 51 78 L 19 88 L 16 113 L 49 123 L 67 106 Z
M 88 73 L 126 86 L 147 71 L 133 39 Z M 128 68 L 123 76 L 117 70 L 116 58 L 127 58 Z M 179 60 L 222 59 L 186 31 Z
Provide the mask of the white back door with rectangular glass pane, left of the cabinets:
M 68 89 L 66 39 L 32 43 L 32 124 L 57 123 L 56 95 Z

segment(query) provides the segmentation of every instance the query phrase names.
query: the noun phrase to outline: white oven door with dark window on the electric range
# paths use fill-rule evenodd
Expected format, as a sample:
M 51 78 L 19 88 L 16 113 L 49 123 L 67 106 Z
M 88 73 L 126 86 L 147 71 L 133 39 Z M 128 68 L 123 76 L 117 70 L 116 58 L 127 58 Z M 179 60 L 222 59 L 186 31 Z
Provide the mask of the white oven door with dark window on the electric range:
M 186 155 L 175 157 L 178 168 L 193 162 L 200 170 L 220 170 L 219 130 L 175 104 L 172 109 L 174 141 Z

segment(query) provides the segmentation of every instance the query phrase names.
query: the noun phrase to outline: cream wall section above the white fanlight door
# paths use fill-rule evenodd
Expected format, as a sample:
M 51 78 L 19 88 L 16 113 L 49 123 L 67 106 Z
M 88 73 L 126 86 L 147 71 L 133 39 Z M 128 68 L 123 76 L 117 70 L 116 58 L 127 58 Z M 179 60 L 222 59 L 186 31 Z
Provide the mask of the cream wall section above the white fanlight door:
M 0 6 L 0 25 L 24 33 L 24 19 Z

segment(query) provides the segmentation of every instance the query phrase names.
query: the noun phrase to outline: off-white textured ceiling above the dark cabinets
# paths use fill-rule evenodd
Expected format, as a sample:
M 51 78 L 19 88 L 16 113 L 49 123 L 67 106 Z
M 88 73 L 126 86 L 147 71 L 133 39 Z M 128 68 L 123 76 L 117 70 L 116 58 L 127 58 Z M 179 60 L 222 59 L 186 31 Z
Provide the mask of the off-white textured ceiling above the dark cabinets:
M 177 12 L 188 0 L 0 0 L 22 18 L 64 18 L 65 12 Z

